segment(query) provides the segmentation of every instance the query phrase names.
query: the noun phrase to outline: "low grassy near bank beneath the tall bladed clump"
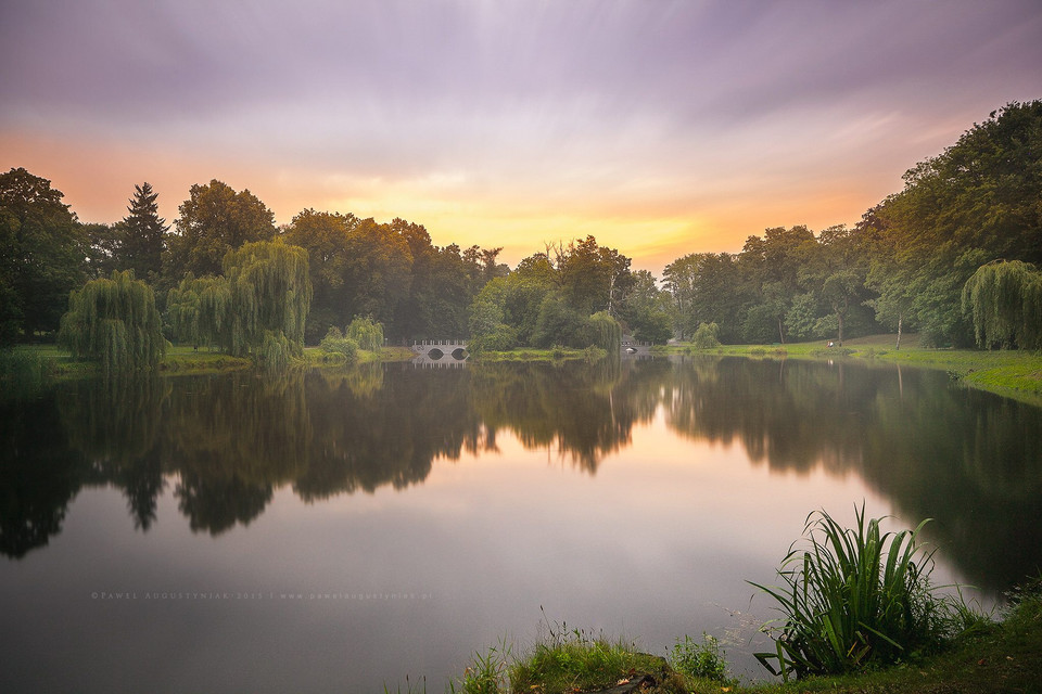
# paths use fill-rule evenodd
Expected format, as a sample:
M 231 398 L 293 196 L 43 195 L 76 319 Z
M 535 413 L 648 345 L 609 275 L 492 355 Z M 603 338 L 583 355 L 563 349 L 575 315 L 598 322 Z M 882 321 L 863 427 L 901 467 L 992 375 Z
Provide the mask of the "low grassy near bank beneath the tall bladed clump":
M 1039 583 L 1014 597 L 996 621 L 978 625 L 940 653 L 910 658 L 865 672 L 808 677 L 789 682 L 740 682 L 728 677 L 725 653 L 711 637 L 684 639 L 668 657 L 643 653 L 624 640 L 589 638 L 582 631 L 546 634 L 514 658 L 503 643 L 478 654 L 453 694 L 574 694 L 601 692 L 626 682 L 644 682 L 647 694 L 971 694 L 1042 692 L 1042 593 Z M 650 676 L 650 684 L 645 676 Z M 425 692 L 427 687 L 387 687 L 387 692 Z M 618 690 L 611 690 L 618 691 Z

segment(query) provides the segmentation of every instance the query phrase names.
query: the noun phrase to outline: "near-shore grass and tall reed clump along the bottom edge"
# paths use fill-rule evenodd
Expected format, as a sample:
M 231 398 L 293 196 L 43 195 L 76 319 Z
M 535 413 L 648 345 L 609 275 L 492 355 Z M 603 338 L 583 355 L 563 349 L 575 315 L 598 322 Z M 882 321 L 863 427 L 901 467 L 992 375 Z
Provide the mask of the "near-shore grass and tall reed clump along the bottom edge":
M 931 586 L 931 553 L 918 529 L 881 532 L 856 514 L 853 528 L 827 513 L 808 517 L 805 547 L 778 568 L 783 588 L 758 586 L 782 617 L 764 626 L 776 651 L 758 654 L 782 682 L 741 684 L 720 642 L 677 640 L 666 657 L 634 642 L 547 626 L 514 657 L 506 642 L 475 654 L 447 691 L 498 692 L 1013 692 L 1042 681 L 1042 577 L 1008 595 L 1001 619 Z M 920 526 L 922 527 L 922 526 Z M 775 668 L 777 666 L 777 669 Z M 425 689 L 425 687 L 424 687 Z M 401 689 L 398 690 L 401 692 Z M 410 687 L 410 691 L 411 687 Z

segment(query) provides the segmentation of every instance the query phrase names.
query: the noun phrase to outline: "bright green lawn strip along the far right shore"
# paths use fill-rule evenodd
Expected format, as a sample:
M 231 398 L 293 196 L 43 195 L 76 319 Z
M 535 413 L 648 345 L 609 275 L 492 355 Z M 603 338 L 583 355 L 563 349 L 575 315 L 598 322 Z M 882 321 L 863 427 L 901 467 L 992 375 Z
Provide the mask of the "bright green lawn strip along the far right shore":
M 656 354 L 709 354 L 753 358 L 867 359 L 941 369 L 954 380 L 1042 404 L 1042 354 L 1031 351 L 977 349 L 931 349 L 919 344 L 918 335 L 904 335 L 901 349 L 894 349 L 897 335 L 872 335 L 829 348 L 826 343 L 787 345 L 724 345 L 699 352 L 690 345 L 656 347 Z

